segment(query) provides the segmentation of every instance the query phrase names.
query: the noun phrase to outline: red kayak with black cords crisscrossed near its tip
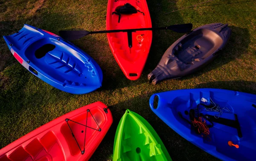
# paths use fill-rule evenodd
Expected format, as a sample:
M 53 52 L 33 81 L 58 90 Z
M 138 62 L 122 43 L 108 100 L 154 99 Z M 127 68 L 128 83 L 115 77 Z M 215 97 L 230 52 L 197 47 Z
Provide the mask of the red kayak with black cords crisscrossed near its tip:
M 87 161 L 112 121 L 104 103 L 83 106 L 4 147 L 0 161 Z

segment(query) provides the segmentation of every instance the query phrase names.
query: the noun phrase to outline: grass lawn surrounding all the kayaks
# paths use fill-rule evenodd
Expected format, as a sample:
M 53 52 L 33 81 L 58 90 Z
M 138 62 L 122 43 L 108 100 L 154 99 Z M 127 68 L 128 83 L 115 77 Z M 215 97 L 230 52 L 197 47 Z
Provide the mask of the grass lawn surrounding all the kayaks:
M 113 106 L 113 124 L 91 160 L 111 160 L 116 127 L 124 111 L 143 116 L 156 130 L 173 160 L 217 160 L 186 141 L 163 123 L 148 106 L 155 92 L 189 88 L 221 88 L 256 93 L 256 2 L 254 0 L 147 0 L 153 26 L 193 23 L 229 23 L 232 35 L 227 47 L 213 63 L 200 72 L 156 86 L 147 74 L 157 65 L 165 50 L 182 34 L 153 33 L 153 42 L 143 74 L 130 81 L 113 58 L 106 35 L 89 35 L 73 43 L 87 52 L 102 68 L 99 90 L 72 95 L 53 88 L 29 73 L 12 56 L 0 38 L 0 148 L 26 133 L 81 106 L 102 101 Z M 105 29 L 107 0 L 0 0 L 0 35 L 11 35 L 24 23 L 58 34 L 61 29 Z

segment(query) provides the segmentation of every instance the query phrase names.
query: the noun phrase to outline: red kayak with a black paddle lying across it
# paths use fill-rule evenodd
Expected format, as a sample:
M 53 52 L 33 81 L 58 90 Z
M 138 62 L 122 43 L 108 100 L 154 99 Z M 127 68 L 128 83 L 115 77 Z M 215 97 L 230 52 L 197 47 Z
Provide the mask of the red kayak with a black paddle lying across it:
M 146 0 L 108 0 L 107 30 L 151 28 Z M 152 31 L 108 33 L 108 44 L 130 80 L 137 80 L 145 66 L 152 42 Z

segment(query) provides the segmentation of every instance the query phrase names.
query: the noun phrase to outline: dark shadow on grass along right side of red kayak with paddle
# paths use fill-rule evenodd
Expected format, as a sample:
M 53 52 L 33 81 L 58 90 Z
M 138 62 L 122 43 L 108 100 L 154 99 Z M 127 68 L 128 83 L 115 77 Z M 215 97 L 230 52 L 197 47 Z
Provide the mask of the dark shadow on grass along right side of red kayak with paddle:
M 168 5 L 169 3 L 167 3 L 166 0 L 158 0 L 157 3 L 153 0 L 148 2 L 148 7 L 151 9 L 150 14 L 153 27 L 164 27 L 184 23 L 179 12 L 175 12 L 167 16 L 163 15 L 167 10 L 169 10 Z M 172 8 L 177 9 L 175 3 Z M 166 49 L 168 49 L 169 46 L 171 46 L 172 43 L 174 43 L 182 35 L 184 34 L 172 32 L 170 30 L 159 30 L 153 32 L 151 49 L 143 70 L 145 78 L 147 78 L 148 73 L 150 73 L 157 66 L 157 63 L 162 58 Z

